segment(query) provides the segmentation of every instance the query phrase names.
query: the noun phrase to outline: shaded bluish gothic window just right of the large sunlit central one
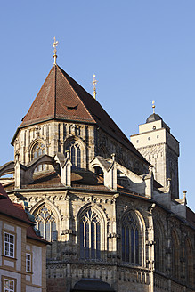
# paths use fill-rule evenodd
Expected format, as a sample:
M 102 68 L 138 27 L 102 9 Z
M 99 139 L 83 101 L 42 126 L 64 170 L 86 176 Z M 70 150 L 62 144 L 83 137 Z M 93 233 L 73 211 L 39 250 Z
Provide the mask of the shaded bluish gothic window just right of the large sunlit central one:
M 139 225 L 129 212 L 122 222 L 122 260 L 131 264 L 140 264 Z

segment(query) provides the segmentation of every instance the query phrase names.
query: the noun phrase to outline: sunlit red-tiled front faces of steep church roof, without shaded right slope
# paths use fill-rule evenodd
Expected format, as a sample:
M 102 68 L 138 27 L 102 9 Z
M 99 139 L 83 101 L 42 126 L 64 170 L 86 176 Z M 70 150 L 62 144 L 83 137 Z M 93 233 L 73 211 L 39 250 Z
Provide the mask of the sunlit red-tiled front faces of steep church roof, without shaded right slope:
M 69 79 L 57 65 L 50 70 L 20 126 L 28 126 L 49 118 L 95 123 Z

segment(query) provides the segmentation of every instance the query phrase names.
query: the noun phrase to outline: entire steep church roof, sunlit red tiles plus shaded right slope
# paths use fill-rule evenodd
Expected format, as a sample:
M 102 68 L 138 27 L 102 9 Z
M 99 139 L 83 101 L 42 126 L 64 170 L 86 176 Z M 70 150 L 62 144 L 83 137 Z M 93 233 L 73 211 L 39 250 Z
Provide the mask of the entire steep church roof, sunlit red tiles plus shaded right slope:
M 100 103 L 58 65 L 53 65 L 19 129 L 51 119 L 96 124 L 142 158 Z

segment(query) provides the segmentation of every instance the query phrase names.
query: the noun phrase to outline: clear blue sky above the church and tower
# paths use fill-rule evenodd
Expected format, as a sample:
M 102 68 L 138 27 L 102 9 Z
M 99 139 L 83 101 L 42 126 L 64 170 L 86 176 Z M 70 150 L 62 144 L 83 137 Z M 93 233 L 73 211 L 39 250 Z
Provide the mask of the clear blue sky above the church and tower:
M 0 165 L 12 137 L 57 62 L 97 99 L 127 137 L 156 112 L 180 142 L 180 197 L 195 210 L 195 1 L 2 1 Z

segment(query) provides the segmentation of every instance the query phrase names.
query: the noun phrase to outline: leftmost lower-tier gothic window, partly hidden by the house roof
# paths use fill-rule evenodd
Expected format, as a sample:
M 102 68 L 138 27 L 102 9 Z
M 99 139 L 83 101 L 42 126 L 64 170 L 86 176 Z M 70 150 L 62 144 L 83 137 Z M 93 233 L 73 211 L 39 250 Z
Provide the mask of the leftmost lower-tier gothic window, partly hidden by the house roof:
M 35 214 L 37 229 L 41 232 L 41 236 L 48 241 L 53 241 L 56 237 L 56 219 L 53 211 L 46 205 L 42 205 L 37 209 Z

